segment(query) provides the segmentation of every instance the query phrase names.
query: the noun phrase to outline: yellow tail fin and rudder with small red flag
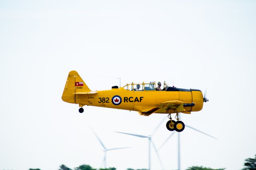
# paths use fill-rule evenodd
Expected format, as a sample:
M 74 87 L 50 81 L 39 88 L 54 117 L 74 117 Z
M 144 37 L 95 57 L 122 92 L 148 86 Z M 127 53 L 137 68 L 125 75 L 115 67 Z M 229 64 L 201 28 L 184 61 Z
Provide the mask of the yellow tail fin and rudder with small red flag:
M 70 71 L 61 98 L 65 102 L 76 103 L 76 94 L 91 92 L 92 91 L 84 83 L 80 75 L 76 71 Z

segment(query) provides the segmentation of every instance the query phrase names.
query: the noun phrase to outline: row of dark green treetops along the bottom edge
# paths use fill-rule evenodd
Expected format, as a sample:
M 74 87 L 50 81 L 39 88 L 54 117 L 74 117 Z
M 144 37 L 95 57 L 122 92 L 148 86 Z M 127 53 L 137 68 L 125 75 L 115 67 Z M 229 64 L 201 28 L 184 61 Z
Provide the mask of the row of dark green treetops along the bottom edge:
M 255 158 L 247 158 L 245 160 L 244 163 L 245 168 L 243 168 L 242 170 L 256 170 L 256 155 Z M 40 170 L 39 168 L 36 169 L 32 169 L 30 168 L 29 170 Z M 66 165 L 61 165 L 59 170 L 72 170 L 71 168 L 68 168 Z M 92 168 L 90 165 L 80 165 L 76 168 L 74 168 L 74 170 L 96 170 L 95 168 Z M 99 170 L 116 170 L 116 168 L 112 167 L 112 168 L 100 168 Z M 126 170 L 135 170 L 132 168 L 127 168 Z M 136 169 L 136 170 L 148 170 L 146 168 L 144 169 Z M 191 166 L 189 168 L 187 168 L 186 170 L 225 170 L 225 168 L 218 168 L 218 169 L 212 169 L 212 168 L 206 168 L 203 166 Z

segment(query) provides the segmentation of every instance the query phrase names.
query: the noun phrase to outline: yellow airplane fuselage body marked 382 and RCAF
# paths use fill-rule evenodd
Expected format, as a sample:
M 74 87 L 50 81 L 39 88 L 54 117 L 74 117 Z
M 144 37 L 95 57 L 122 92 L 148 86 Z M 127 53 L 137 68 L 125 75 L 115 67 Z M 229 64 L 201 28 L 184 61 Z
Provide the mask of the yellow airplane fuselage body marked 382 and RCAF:
M 184 113 L 200 111 L 203 107 L 202 92 L 196 89 L 168 87 L 166 91 L 132 91 L 121 87 L 97 92 L 91 95 L 76 94 L 75 103 L 142 112 L 166 101 L 182 101 Z

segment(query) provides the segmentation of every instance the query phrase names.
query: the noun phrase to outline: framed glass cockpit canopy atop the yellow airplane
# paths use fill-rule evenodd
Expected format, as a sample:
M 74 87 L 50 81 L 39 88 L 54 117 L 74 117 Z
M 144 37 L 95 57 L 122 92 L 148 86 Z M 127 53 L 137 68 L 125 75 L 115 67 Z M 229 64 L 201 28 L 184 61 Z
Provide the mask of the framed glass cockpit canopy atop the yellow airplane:
M 169 87 L 165 82 L 164 82 L 164 91 L 166 87 Z M 123 87 L 125 90 L 130 90 L 130 91 L 156 91 L 156 82 L 152 81 L 150 83 L 131 83 L 131 84 L 126 84 Z

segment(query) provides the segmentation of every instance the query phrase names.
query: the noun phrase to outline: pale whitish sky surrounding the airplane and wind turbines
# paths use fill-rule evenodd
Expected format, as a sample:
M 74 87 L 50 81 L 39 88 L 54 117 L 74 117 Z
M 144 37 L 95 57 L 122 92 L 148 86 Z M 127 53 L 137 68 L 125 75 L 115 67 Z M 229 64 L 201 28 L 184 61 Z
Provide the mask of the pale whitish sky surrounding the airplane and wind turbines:
M 171 134 L 167 115 L 84 107 L 61 100 L 69 71 L 92 90 L 166 81 L 207 89 L 202 111 L 182 114 L 181 169 L 240 170 L 256 154 L 256 1 L 0 0 L 0 170 L 57 170 L 90 164 L 148 168 Z M 177 134 L 159 150 L 165 170 L 178 168 Z M 152 170 L 161 165 L 151 148 Z

